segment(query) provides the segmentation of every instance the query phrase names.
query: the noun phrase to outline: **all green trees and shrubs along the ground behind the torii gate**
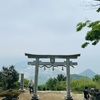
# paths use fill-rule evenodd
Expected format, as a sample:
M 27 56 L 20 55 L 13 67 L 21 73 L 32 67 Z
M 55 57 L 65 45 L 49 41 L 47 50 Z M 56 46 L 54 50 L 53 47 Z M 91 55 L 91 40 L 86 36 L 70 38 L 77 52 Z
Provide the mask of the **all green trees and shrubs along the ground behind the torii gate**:
M 12 70 L 11 70 L 12 69 Z M 14 69 L 14 66 L 6 68 L 3 67 L 1 71 L 0 91 L 8 89 L 19 89 L 20 82 L 18 81 L 18 72 Z M 6 77 L 8 75 L 8 77 Z M 16 80 L 15 80 L 16 79 Z M 8 84 L 10 82 L 10 84 Z M 28 87 L 28 79 L 24 79 L 25 88 Z M 6 84 L 5 84 L 6 83 Z M 4 85 L 5 84 L 5 85 Z M 84 87 L 99 88 L 100 89 L 100 75 L 95 75 L 92 79 L 88 77 L 79 76 L 76 74 L 71 75 L 71 91 L 83 92 Z M 33 84 L 34 85 L 34 84 Z M 38 85 L 39 90 L 52 90 L 62 91 L 66 90 L 66 77 L 63 74 L 58 74 L 57 77 L 49 78 L 43 85 Z

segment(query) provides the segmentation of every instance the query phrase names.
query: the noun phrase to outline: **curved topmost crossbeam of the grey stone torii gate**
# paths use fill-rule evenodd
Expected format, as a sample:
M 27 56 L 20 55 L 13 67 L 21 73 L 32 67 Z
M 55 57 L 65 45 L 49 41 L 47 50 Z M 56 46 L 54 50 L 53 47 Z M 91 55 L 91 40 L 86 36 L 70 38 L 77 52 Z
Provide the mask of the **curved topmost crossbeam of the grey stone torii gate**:
M 73 54 L 73 55 L 36 55 L 36 54 L 29 54 L 29 53 L 25 53 L 25 56 L 27 56 L 28 58 L 69 58 L 69 59 L 76 59 L 78 56 L 80 56 L 80 54 Z

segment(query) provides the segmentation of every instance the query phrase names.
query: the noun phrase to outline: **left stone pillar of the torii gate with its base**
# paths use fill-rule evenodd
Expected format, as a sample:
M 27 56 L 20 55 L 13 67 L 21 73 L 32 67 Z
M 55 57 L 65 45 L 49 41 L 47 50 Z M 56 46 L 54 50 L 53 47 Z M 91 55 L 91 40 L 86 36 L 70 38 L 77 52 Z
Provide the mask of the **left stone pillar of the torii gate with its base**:
M 37 95 L 37 90 L 38 90 L 38 72 L 39 72 L 39 58 L 36 58 L 35 79 L 34 79 L 34 94 L 33 94 L 31 100 L 39 100 L 39 97 Z

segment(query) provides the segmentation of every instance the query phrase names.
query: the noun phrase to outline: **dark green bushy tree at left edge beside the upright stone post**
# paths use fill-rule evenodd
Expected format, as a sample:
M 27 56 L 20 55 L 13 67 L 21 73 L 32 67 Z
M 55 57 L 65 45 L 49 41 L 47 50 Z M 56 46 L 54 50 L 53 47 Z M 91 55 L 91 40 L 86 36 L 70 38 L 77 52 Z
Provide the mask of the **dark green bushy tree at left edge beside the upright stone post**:
M 18 72 L 14 69 L 14 66 L 10 66 L 9 68 L 2 68 L 2 76 L 1 76 L 1 85 L 4 90 L 13 88 L 15 82 L 19 79 Z

